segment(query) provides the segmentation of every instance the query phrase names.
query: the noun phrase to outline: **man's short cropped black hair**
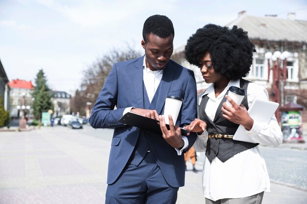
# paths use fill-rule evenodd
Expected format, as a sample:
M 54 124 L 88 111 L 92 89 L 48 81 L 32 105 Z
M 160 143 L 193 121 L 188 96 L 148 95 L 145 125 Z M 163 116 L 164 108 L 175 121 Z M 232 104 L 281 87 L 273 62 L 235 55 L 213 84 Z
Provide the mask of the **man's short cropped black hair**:
M 174 26 L 172 21 L 162 15 L 153 15 L 146 19 L 143 26 L 143 39 L 147 42 L 147 37 L 150 35 L 156 35 L 160 38 L 166 38 L 170 35 L 175 36 Z

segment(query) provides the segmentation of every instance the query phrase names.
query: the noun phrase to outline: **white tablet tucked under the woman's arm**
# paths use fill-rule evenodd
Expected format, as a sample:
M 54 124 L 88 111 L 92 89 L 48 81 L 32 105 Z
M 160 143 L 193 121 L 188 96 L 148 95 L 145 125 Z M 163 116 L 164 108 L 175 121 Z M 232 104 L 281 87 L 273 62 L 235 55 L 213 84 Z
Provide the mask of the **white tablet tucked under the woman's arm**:
M 279 103 L 255 98 L 247 112 L 254 120 L 258 122 L 269 123 L 278 107 Z M 232 139 L 256 143 L 250 136 L 246 134 L 246 132 L 247 130 L 243 127 L 243 125 L 239 125 Z

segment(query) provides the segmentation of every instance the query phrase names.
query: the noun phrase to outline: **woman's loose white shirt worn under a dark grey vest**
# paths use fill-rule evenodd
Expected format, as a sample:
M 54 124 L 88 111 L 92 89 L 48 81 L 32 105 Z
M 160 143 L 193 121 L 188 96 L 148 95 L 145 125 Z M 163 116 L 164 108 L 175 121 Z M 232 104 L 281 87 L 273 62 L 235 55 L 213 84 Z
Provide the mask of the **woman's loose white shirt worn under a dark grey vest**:
M 214 84 L 202 94 L 208 94 L 209 100 L 205 113 L 213 120 L 216 110 L 230 86 L 240 87 L 240 80 L 230 81 L 225 90 L 216 98 Z M 255 98 L 269 100 L 266 89 L 255 83 L 247 88 L 247 100 L 250 107 Z M 268 124 L 254 120 L 253 127 L 247 134 L 263 145 L 279 145 L 282 142 L 281 128 L 275 115 Z M 198 136 L 194 148 L 198 152 L 205 152 L 207 132 Z M 218 158 L 212 162 L 205 157 L 203 168 L 203 191 L 205 198 L 217 201 L 224 198 L 243 198 L 262 191 L 270 191 L 270 180 L 265 161 L 258 146 L 238 153 L 225 161 Z

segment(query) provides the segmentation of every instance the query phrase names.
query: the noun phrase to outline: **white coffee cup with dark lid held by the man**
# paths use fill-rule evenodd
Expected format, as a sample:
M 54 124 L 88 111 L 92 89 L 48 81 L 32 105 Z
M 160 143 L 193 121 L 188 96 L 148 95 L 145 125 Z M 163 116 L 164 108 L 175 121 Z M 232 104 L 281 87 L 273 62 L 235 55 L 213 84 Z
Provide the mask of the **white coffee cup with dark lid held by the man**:
M 165 97 L 165 106 L 164 106 L 164 119 L 165 124 L 170 124 L 168 115 L 172 115 L 174 125 L 176 124 L 178 114 L 182 105 L 182 98 L 176 96 L 166 96 Z

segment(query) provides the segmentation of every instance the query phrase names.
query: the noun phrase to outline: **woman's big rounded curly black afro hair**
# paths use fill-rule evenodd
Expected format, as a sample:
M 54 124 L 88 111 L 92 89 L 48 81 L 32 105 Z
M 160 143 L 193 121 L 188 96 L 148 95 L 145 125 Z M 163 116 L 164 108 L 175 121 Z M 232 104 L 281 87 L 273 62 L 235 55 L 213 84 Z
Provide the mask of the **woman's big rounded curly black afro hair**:
M 184 54 L 190 64 L 199 66 L 200 59 L 207 52 L 215 72 L 229 80 L 237 80 L 247 76 L 256 49 L 242 28 L 206 24 L 190 36 Z

